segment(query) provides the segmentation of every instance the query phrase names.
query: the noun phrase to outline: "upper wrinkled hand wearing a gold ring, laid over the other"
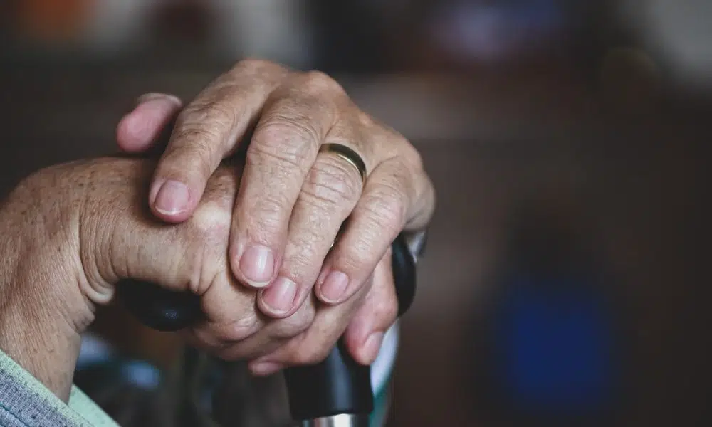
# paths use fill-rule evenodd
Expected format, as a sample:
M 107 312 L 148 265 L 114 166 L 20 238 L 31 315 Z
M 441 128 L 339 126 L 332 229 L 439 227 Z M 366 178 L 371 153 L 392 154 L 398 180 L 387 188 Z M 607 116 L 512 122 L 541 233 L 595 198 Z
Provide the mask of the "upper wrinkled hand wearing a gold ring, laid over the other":
M 173 120 L 148 194 L 153 214 L 170 223 L 190 218 L 221 160 L 246 148 L 229 232 L 234 275 L 260 290 L 258 306 L 271 317 L 290 317 L 310 295 L 340 307 L 330 322 L 348 326 L 352 354 L 372 362 L 389 324 L 342 303 L 364 293 L 370 278 L 392 287 L 392 241 L 431 218 L 434 189 L 416 149 L 327 75 L 262 60 L 241 61 L 184 108 L 170 95 L 144 95 L 117 127 L 119 146 L 147 152 Z M 367 178 L 323 150 L 328 144 L 352 149 Z M 286 346 L 263 361 L 281 364 L 292 354 Z

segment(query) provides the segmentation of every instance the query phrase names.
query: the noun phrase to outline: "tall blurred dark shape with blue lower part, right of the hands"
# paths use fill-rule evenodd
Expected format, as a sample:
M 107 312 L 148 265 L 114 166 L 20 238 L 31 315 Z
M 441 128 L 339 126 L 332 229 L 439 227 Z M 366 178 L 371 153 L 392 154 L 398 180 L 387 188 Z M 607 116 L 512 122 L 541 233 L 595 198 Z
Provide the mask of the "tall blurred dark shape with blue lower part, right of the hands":
M 540 204 L 513 217 L 475 350 L 478 399 L 496 423 L 609 426 L 626 383 L 622 301 L 592 229 Z

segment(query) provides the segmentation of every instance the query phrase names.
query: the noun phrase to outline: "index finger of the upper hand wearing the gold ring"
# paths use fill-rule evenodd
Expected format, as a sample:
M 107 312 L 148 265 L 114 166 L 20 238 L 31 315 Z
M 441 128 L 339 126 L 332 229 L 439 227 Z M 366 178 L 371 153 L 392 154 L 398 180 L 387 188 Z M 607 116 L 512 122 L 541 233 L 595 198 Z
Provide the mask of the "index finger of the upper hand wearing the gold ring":
M 209 177 L 234 152 L 286 73 L 267 61 L 241 61 L 184 108 L 152 180 L 153 214 L 169 222 L 192 215 Z

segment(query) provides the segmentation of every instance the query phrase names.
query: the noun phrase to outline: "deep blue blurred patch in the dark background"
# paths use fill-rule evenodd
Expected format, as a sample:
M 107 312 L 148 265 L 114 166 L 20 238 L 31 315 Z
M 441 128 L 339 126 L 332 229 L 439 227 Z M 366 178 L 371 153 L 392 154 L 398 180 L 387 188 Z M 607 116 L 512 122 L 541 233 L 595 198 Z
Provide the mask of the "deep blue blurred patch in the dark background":
M 512 404 L 548 413 L 596 411 L 616 377 L 612 313 L 587 278 L 537 286 L 518 278 L 496 325 L 499 378 Z M 567 283 L 568 282 L 568 283 Z

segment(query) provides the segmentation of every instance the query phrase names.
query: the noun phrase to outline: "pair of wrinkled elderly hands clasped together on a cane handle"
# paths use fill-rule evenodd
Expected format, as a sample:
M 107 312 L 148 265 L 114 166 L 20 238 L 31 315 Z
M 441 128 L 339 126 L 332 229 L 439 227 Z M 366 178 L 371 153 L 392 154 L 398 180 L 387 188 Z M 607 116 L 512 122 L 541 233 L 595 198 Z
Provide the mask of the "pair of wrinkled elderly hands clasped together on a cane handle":
M 390 245 L 434 210 L 407 139 L 323 73 L 243 60 L 187 105 L 140 97 L 117 142 L 132 155 L 43 169 L 4 201 L 6 353 L 66 398 L 80 334 L 133 278 L 200 295 L 204 322 L 179 333 L 253 374 L 318 362 L 342 334 L 375 359 L 397 315 Z

